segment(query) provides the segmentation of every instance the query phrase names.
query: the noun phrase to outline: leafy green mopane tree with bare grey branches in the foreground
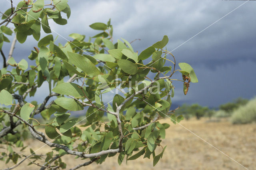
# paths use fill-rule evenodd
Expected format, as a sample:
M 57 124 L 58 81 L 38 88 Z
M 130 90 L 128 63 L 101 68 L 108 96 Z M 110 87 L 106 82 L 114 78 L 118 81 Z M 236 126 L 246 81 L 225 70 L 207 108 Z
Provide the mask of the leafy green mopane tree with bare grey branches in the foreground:
M 166 148 L 161 141 L 170 126 L 158 120 L 169 117 L 170 123 L 176 124 L 183 119 L 170 111 L 175 80 L 172 75 L 180 74 L 186 95 L 190 83 L 198 82 L 194 70 L 187 63 L 177 65 L 172 53 L 164 49 L 167 36 L 140 54 L 127 40 L 115 42 L 110 20 L 91 24 L 99 33 L 87 41 L 84 35 L 72 33 L 72 41 L 56 44 L 48 20 L 65 25 L 70 7 L 67 0 L 48 2 L 23 0 L 16 6 L 10 0 L 10 8 L 2 12 L 0 160 L 12 161 L 11 168 L 27 160 L 40 169 L 58 169 L 66 168 L 68 162 L 61 158 L 70 154 L 84 160 L 72 168 L 77 169 L 92 162 L 101 164 L 115 155 L 119 164 L 144 155 L 152 157 L 155 165 Z M 41 30 L 48 35 L 41 38 Z M 6 55 L 2 45 L 10 42 L 11 35 L 14 39 Z M 24 43 L 28 36 L 38 41 L 37 46 L 30 47 L 34 50 L 28 56 L 34 65 L 12 56 L 16 40 Z M 28 103 L 28 98 L 38 99 L 34 95 L 42 90 L 44 82 L 49 87 L 44 89 L 44 101 Z M 113 99 L 106 103 L 103 95 Z M 72 116 L 76 111 L 82 113 L 82 121 Z M 40 118 L 47 123 L 40 122 Z M 51 147 L 52 152 L 37 155 L 24 142 L 28 136 L 42 147 Z M 162 152 L 156 153 L 157 147 Z M 19 152 L 14 151 L 16 148 Z M 23 154 L 29 149 L 30 155 Z M 45 163 L 39 164 L 42 160 Z

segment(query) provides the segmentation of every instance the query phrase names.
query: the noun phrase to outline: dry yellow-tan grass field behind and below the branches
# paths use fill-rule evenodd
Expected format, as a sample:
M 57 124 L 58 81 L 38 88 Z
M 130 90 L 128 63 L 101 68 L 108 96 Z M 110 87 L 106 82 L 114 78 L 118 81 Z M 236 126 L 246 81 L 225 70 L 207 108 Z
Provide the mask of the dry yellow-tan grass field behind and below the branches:
M 241 163 L 246 168 L 256 169 L 256 124 L 247 125 L 232 125 L 227 120 L 220 122 L 207 122 L 208 119 L 191 119 L 189 121 L 182 121 L 180 124 L 191 130 L 189 132 L 181 125 L 174 125 L 170 120 L 162 120 L 161 122 L 170 123 L 170 128 L 166 130 L 166 139 L 163 140 L 162 145 L 167 148 L 164 156 L 158 164 L 153 167 L 153 159 L 143 159 L 143 156 L 137 160 L 122 162 L 121 166 L 117 163 L 117 156 L 107 158 L 103 164 L 92 163 L 89 166 L 81 169 L 104 169 L 104 170 L 144 170 L 144 169 L 175 169 L 175 170 L 240 170 L 245 169 L 237 162 Z M 228 158 L 216 148 L 213 148 L 202 139 L 192 134 L 192 132 L 234 160 Z M 29 140 L 28 144 L 37 150 L 42 146 L 42 143 L 36 140 Z M 50 151 L 48 146 L 38 150 L 36 154 L 43 154 Z M 29 154 L 29 151 L 26 151 Z M 160 150 L 157 150 L 160 152 Z M 158 154 L 158 153 L 157 153 Z M 63 156 L 62 161 L 66 162 L 67 169 L 72 168 L 84 160 L 74 159 L 74 156 Z M 37 170 L 39 167 L 35 165 L 26 166 L 28 160 L 23 162 L 16 169 L 30 169 Z M 41 164 L 41 163 L 40 163 Z M 2 168 L 12 166 L 1 164 Z

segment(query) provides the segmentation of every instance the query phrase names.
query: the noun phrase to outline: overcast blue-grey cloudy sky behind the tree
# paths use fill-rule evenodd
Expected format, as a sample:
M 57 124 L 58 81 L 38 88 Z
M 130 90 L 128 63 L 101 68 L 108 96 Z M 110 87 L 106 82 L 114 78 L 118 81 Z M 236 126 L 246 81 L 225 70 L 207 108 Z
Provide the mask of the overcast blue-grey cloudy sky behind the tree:
M 14 4 L 19 1 L 13 0 Z M 86 35 L 86 39 L 99 32 L 89 25 L 106 23 L 111 18 L 114 41 L 124 38 L 140 53 L 153 43 L 169 38 L 167 49 L 172 51 L 176 62 L 189 63 L 195 70 L 198 83 L 192 83 L 184 96 L 180 82 L 176 86 L 172 102 L 199 103 L 218 107 L 243 97 L 256 95 L 256 2 L 210 0 L 70 0 L 71 16 L 68 24 L 60 26 L 50 22 L 50 28 L 71 40 L 71 33 Z M 0 11 L 10 8 L 10 3 L 1 0 Z M 240 6 L 239 8 L 237 8 Z M 234 10 L 237 8 L 236 10 Z M 231 12 L 234 10 L 233 12 Z M 228 14 L 231 12 L 230 14 Z M 225 16 L 228 14 L 227 16 Z M 224 18 L 222 18 L 225 16 Z M 219 20 L 222 18 L 221 20 Z M 218 22 L 216 22 L 219 20 Z M 215 24 L 213 24 L 216 22 Z M 213 24 L 212 26 L 210 26 Z M 210 27 L 208 27 L 210 26 Z M 207 28 L 208 27 L 208 28 Z M 206 30 L 204 30 L 207 28 Z M 202 31 L 204 30 L 204 31 Z M 202 31 L 202 32 L 201 32 Z M 201 32 L 200 34 L 198 34 Z M 197 36 L 195 36 L 198 34 Z M 41 38 L 46 34 L 41 35 Z M 58 36 L 58 42 L 66 40 Z M 195 36 L 194 38 L 192 38 Z M 189 40 L 192 38 L 191 40 Z M 188 42 L 186 42 L 189 40 Z M 184 43 L 186 42 L 186 43 Z M 184 43 L 183 45 L 181 45 Z M 32 38 L 17 43 L 13 57 L 16 61 L 27 57 L 37 42 Z M 180 45 L 180 47 L 178 47 Z M 178 47 L 178 48 L 177 48 Z M 8 55 L 10 44 L 4 46 Z M 2 58 L 0 63 L 2 63 Z M 177 73 L 180 77 L 180 73 Z M 46 89 L 48 88 L 45 85 Z M 44 97 L 45 91 L 37 92 Z

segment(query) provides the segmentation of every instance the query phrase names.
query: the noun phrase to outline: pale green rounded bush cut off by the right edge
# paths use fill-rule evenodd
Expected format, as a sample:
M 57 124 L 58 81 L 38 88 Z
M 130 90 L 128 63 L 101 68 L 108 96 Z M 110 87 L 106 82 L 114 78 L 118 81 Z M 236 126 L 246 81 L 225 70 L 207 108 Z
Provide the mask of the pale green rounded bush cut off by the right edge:
M 256 121 L 256 97 L 246 105 L 234 111 L 231 121 L 233 124 L 252 123 Z

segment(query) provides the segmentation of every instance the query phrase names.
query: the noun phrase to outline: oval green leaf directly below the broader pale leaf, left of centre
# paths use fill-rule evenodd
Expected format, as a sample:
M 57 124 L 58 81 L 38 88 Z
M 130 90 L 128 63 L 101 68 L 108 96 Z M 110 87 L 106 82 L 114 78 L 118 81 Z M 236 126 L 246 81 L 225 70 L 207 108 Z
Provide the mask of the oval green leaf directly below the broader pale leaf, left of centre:
M 70 111 L 81 111 L 83 110 L 83 106 L 75 101 L 74 99 L 66 98 L 66 97 L 60 97 L 54 101 L 57 105 L 63 107 L 64 109 L 70 110 Z

